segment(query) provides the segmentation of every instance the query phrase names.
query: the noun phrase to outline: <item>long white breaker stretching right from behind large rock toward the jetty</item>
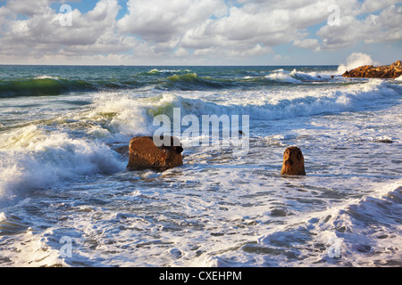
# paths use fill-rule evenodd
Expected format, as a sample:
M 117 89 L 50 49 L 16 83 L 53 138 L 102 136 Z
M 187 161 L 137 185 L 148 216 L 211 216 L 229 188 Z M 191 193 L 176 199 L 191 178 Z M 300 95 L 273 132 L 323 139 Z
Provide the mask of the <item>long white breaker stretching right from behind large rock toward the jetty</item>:
M 321 90 L 306 90 L 280 92 L 274 94 L 238 94 L 229 102 L 217 104 L 201 99 L 186 98 L 177 95 L 163 95 L 160 101 L 150 110 L 172 112 L 172 108 L 181 108 L 184 113 L 203 114 L 248 114 L 252 118 L 294 118 L 311 116 L 326 112 L 344 110 L 359 110 L 370 102 L 383 98 L 397 96 L 398 92 L 381 80 L 372 80 L 364 85 L 353 85 L 339 88 L 322 88 Z

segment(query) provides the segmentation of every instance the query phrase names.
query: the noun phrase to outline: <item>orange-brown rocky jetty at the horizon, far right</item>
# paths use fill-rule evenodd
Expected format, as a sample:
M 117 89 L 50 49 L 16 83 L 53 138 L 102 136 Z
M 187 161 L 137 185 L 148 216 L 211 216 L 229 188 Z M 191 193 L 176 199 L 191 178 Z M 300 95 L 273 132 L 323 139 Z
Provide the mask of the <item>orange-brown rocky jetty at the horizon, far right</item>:
M 397 78 L 402 75 L 402 62 L 396 61 L 391 65 L 374 67 L 364 65 L 357 69 L 346 71 L 343 77 L 367 77 L 367 78 Z

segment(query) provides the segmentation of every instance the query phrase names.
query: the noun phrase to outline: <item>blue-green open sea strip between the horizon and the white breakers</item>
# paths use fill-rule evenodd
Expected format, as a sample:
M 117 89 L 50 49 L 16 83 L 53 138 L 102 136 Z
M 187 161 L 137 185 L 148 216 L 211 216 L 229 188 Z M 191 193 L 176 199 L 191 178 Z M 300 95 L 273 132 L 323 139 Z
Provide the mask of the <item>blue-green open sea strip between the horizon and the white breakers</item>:
M 283 85 L 286 80 L 264 77 L 274 70 L 292 71 L 297 67 L 74 67 L 74 66 L 2 66 L 0 90 L 2 97 L 21 95 L 56 95 L 113 89 L 153 87 L 157 90 L 220 90 L 261 88 Z M 302 67 L 314 72 L 322 67 Z M 336 72 L 336 67 L 326 67 Z M 289 77 L 320 81 L 319 77 L 299 74 Z M 324 80 L 324 79 L 322 79 Z

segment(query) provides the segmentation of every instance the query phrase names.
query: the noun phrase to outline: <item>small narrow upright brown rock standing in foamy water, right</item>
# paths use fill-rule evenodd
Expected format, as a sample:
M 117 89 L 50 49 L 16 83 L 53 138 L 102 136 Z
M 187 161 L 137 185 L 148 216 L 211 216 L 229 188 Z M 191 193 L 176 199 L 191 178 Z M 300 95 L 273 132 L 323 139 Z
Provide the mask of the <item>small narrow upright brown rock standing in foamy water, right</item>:
M 281 175 L 306 175 L 305 159 L 297 147 L 289 147 L 283 154 Z

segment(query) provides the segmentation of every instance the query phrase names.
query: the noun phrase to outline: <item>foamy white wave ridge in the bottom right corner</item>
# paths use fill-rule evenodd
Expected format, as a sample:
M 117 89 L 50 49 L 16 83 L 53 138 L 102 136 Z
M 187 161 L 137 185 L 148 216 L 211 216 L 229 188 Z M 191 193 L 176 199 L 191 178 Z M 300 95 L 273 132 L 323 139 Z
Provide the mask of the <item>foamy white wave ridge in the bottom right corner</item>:
M 398 265 L 401 256 L 394 255 L 394 245 L 401 242 L 401 201 L 402 182 L 380 186 L 346 206 L 297 217 L 293 226 L 260 237 L 256 247 L 286 251 L 298 244 L 298 250 L 314 252 L 307 259 L 317 266 Z

